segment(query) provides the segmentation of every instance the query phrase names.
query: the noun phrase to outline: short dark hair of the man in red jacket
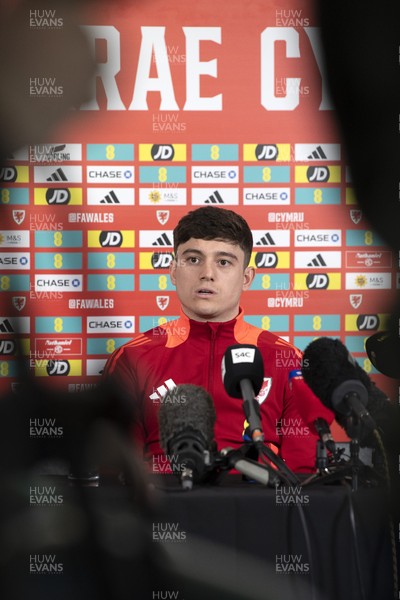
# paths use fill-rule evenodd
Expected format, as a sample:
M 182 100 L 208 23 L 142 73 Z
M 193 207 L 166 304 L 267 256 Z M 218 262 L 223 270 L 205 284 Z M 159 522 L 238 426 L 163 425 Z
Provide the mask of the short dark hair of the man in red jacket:
M 244 252 L 244 266 L 250 262 L 253 235 L 245 219 L 225 208 L 202 206 L 183 216 L 174 229 L 174 252 L 190 238 L 237 244 Z

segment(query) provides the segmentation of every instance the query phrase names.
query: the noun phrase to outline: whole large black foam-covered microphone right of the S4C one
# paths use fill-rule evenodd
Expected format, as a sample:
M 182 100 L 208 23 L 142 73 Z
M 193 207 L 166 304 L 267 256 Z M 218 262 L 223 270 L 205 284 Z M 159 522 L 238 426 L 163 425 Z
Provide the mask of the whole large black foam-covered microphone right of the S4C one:
M 305 382 L 321 402 L 335 412 L 340 424 L 343 423 L 341 417 L 353 415 L 367 430 L 376 429 L 366 408 L 371 388 L 369 377 L 339 339 L 314 340 L 304 350 L 303 358 Z

